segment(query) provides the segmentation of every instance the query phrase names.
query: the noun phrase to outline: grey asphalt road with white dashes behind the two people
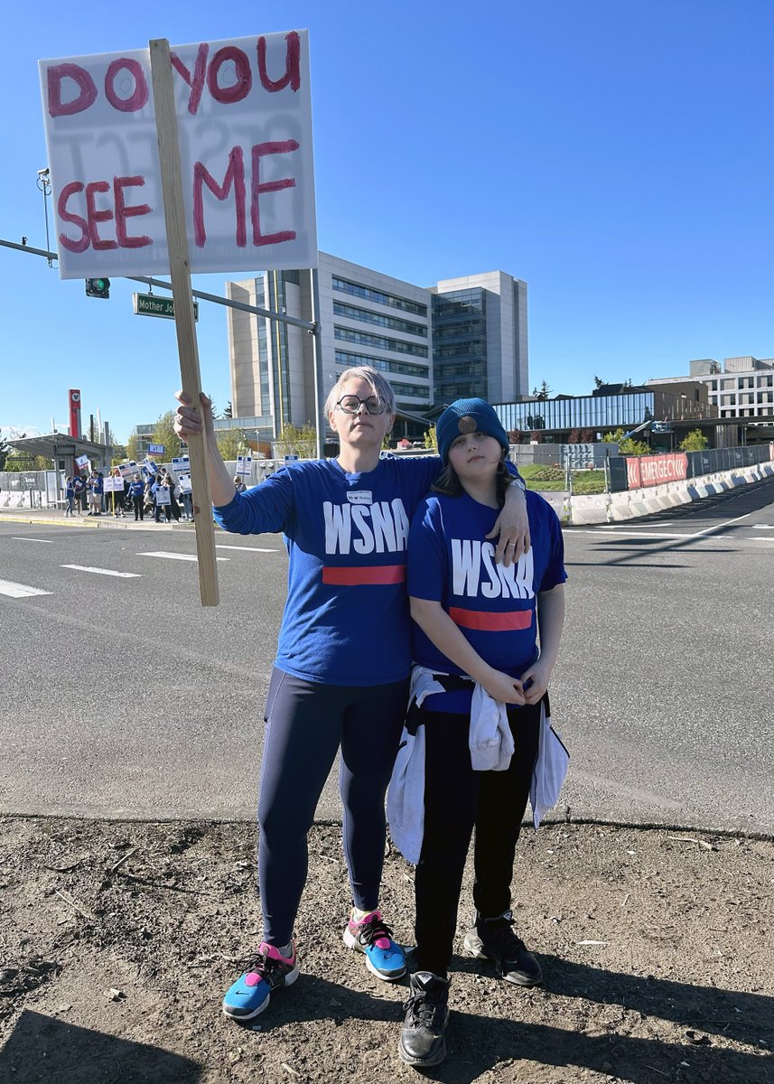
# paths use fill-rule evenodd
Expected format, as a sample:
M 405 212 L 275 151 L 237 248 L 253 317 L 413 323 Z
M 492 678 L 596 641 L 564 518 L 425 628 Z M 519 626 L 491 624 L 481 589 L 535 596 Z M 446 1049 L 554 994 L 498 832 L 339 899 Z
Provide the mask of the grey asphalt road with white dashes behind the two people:
M 0 811 L 253 817 L 287 560 L 216 541 L 204 609 L 191 529 L 0 514 Z M 555 815 L 774 834 L 774 482 L 565 546 Z

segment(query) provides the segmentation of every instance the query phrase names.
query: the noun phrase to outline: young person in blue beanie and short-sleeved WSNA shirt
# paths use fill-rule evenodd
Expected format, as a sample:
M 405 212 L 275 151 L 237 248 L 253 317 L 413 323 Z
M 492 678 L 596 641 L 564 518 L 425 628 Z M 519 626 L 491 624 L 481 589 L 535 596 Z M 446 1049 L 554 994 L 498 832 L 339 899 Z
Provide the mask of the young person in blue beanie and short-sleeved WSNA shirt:
M 488 539 L 508 482 L 508 440 L 489 403 L 457 400 L 436 431 L 446 469 L 409 534 L 414 671 L 407 727 L 424 732 L 424 801 L 420 788 L 409 806 L 422 818 L 416 971 L 399 1054 L 418 1069 L 446 1056 L 448 966 L 474 828 L 476 916 L 465 949 L 494 960 L 509 982 L 542 979 L 512 930 L 511 880 L 566 579 L 559 521 L 538 493 L 526 494 L 529 551 L 507 568 L 495 560 Z

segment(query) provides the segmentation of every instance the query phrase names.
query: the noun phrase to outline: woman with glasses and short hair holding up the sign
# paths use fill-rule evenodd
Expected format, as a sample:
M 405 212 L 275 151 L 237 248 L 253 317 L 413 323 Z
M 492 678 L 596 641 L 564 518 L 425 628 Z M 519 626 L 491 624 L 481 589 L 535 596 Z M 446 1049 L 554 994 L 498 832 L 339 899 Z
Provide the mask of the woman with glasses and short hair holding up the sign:
M 202 417 L 178 395 L 176 433 L 204 433 L 215 518 L 227 530 L 283 531 L 287 602 L 266 708 L 258 822 L 263 940 L 255 967 L 227 992 L 223 1011 L 249 1020 L 272 990 L 298 978 L 293 927 L 307 877 L 307 834 L 340 746 L 344 844 L 352 892 L 345 944 L 385 981 L 405 972 L 378 911 L 384 798 L 398 748 L 411 669 L 405 547 L 409 522 L 438 474 L 435 457 L 380 459 L 395 397 L 370 366 L 346 370 L 325 405 L 335 460 L 289 464 L 237 493 L 218 451 L 209 400 Z M 524 495 L 500 547 L 520 552 Z M 194 509 L 196 511 L 196 509 Z M 503 526 L 498 525 L 498 530 Z

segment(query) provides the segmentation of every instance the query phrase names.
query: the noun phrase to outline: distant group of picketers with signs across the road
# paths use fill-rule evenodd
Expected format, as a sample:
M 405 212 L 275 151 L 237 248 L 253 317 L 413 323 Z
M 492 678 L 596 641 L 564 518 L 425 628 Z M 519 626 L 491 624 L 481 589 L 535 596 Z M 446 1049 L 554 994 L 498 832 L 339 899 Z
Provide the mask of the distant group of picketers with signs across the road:
M 114 478 L 120 478 L 117 468 Z M 105 478 L 101 470 L 82 472 L 65 478 L 65 516 L 114 516 L 116 519 L 134 514 L 136 520 L 145 517 L 154 522 L 172 519 L 193 519 L 191 493 L 181 491 L 175 476 L 165 467 L 143 478 L 139 473 L 124 478 L 122 490 L 105 492 Z

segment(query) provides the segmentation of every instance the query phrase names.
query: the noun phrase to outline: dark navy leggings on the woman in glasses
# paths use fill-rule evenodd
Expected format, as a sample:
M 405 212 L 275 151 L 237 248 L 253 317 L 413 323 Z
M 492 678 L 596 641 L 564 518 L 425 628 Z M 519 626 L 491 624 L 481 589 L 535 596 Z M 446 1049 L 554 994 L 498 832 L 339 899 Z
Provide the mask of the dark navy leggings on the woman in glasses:
M 307 879 L 307 833 L 341 747 L 344 851 L 356 907 L 378 905 L 385 793 L 405 717 L 409 681 L 323 685 L 274 669 L 258 800 L 263 940 L 285 945 Z

